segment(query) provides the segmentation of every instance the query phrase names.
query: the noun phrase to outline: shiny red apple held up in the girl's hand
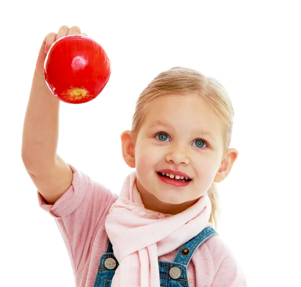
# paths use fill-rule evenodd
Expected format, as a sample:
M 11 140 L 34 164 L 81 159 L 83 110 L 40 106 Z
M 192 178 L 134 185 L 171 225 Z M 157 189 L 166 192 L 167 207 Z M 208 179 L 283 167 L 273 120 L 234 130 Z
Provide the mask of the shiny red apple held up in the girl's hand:
M 54 42 L 44 64 L 47 86 L 57 98 L 70 104 L 96 98 L 110 74 L 110 61 L 101 45 L 81 35 Z

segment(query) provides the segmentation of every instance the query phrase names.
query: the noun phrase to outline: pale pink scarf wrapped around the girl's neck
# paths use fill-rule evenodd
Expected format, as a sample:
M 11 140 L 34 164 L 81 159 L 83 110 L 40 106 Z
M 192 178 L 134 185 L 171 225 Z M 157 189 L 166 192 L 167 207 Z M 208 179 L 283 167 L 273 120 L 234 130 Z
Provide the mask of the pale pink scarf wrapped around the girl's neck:
M 119 262 L 111 287 L 160 287 L 158 257 L 212 226 L 210 213 L 207 193 L 176 215 L 145 209 L 136 187 L 136 173 L 129 174 L 105 221 Z

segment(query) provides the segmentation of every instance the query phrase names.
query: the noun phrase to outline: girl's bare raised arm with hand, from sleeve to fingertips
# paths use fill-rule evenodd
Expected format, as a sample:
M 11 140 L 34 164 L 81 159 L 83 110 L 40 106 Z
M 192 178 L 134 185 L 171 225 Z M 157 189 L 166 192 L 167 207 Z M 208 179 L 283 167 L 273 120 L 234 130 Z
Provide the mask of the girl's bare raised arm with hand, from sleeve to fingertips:
M 54 204 L 71 186 L 73 172 L 57 154 L 60 100 L 48 89 L 44 61 L 51 45 L 66 35 L 81 34 L 78 27 L 62 26 L 49 33 L 41 46 L 24 119 L 22 160 L 45 200 Z M 86 36 L 86 35 L 85 35 Z

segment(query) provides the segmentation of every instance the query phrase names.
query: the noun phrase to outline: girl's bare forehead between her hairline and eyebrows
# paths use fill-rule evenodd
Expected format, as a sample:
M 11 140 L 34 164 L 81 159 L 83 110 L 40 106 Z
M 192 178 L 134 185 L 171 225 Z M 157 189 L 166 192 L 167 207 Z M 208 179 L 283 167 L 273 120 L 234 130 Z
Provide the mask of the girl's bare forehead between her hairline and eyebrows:
M 208 107 L 204 99 L 196 94 L 164 95 L 150 101 L 144 109 L 142 125 L 172 125 L 178 129 L 221 133 L 218 116 Z

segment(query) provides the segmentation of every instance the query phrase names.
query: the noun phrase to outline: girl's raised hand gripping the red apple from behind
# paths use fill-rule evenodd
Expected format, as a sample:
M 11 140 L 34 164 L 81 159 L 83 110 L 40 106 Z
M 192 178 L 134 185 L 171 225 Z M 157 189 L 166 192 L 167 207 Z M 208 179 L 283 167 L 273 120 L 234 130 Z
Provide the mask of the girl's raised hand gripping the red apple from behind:
M 51 45 L 57 41 L 58 39 L 67 36 L 67 35 L 83 35 L 87 36 L 85 33 L 81 33 L 80 28 L 77 26 L 73 26 L 69 29 L 68 26 L 64 25 L 59 29 L 58 34 L 51 32 L 47 34 L 45 37 L 36 64 L 35 74 L 38 74 L 44 78 L 44 62 L 47 56 L 47 53 L 51 47 Z

